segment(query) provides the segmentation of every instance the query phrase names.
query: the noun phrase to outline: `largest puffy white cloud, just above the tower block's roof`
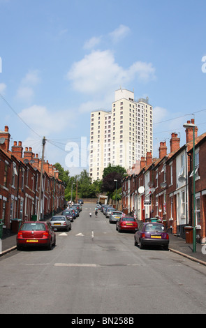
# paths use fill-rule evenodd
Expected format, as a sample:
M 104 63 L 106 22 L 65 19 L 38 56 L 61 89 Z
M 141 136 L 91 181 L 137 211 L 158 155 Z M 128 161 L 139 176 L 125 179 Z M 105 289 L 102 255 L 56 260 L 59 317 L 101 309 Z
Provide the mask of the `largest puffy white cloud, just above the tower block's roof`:
M 152 64 L 135 62 L 124 69 L 115 62 L 110 50 L 94 51 L 75 62 L 67 74 L 73 89 L 85 94 L 105 94 L 119 85 L 127 84 L 138 77 L 141 82 L 154 79 L 155 69 Z

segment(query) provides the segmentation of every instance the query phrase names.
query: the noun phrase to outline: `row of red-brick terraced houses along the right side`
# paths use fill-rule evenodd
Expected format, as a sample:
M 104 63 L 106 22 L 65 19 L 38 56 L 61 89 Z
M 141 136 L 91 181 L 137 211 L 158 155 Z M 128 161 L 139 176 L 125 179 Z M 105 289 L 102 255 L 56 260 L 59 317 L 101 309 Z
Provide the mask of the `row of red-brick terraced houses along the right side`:
M 188 124 L 194 125 L 194 119 L 188 121 Z M 195 172 L 193 128 L 188 127 L 186 144 L 182 147 L 179 147 L 177 133 L 172 133 L 169 153 L 165 142 L 161 142 L 159 158 L 152 158 L 151 152 L 147 152 L 146 158 L 141 158 L 138 174 L 129 174 L 122 182 L 122 206 L 124 211 L 136 214 L 140 221 L 160 217 L 171 233 L 183 238 L 184 227 L 193 225 L 195 213 L 197 241 L 205 243 L 206 133 L 198 136 L 197 127 L 194 128 L 194 133 Z

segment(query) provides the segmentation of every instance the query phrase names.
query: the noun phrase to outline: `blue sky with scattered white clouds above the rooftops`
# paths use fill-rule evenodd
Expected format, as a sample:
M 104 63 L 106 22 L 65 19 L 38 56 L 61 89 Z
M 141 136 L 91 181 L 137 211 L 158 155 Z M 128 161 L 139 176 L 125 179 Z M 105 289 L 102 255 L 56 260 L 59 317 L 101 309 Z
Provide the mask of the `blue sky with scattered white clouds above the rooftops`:
M 10 147 L 88 170 L 90 113 L 115 90 L 149 97 L 154 152 L 195 119 L 206 131 L 205 0 L 0 0 L 0 130 Z M 88 148 L 89 149 L 89 148 Z M 74 155 L 74 156 L 73 156 Z

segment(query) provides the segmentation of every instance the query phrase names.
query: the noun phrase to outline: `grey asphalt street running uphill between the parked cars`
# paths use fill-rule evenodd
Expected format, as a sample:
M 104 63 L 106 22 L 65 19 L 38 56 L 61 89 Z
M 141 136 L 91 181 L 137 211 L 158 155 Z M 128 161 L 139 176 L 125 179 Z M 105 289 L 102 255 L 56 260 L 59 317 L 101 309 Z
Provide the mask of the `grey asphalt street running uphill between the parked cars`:
M 0 258 L 0 313 L 205 313 L 206 269 L 161 248 L 140 250 L 84 204 L 51 251 Z M 89 217 L 92 211 L 92 217 Z

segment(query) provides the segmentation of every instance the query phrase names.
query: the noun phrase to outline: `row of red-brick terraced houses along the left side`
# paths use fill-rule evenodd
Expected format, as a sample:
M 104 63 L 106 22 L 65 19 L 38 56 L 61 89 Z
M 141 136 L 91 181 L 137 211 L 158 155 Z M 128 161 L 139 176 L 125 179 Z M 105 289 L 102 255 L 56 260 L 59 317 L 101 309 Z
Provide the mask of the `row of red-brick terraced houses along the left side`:
M 41 158 L 31 147 L 23 151 L 22 142 L 10 147 L 8 126 L 0 131 L 0 219 L 3 228 L 10 229 L 15 218 L 22 221 L 45 218 L 64 208 L 64 183 L 59 172 L 44 161 L 41 202 L 39 187 Z

